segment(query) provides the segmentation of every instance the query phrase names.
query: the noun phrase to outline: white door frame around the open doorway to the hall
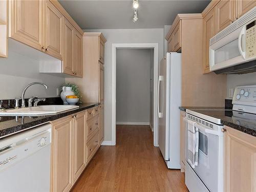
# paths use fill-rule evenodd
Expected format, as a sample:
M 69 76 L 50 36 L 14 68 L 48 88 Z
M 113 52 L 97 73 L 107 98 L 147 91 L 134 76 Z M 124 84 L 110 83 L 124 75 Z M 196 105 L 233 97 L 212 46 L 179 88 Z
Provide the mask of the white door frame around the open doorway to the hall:
M 116 49 L 154 49 L 154 88 L 153 88 L 153 130 L 154 146 L 158 145 L 157 82 L 158 82 L 158 43 L 112 44 L 112 101 L 111 101 L 111 145 L 116 145 Z

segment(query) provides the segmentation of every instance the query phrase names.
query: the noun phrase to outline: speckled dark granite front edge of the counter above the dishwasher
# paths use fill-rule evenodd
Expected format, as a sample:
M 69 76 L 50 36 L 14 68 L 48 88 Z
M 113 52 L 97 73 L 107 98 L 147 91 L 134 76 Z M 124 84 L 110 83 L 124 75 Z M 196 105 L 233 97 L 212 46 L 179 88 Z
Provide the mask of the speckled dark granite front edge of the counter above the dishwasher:
M 28 128 L 33 128 L 37 125 L 44 124 L 44 123 L 47 123 L 47 122 L 50 122 L 50 121 L 68 116 L 68 115 L 72 115 L 74 113 L 93 108 L 94 106 L 97 106 L 97 105 L 98 105 L 98 103 L 92 103 L 92 104 L 81 105 L 81 106 L 79 105 L 78 109 L 75 109 L 75 110 L 72 110 L 72 111 L 67 111 L 67 112 L 56 114 L 56 115 L 43 116 L 43 117 L 40 117 L 40 119 L 36 119 L 36 120 L 31 121 L 31 122 L 27 122 L 27 123 L 24 123 L 24 124 L 19 124 L 19 125 L 16 125 L 16 126 L 8 127 L 7 129 L 0 130 L 0 137 L 2 139 L 2 138 L 5 138 L 6 136 L 12 135 L 16 132 L 27 130 Z

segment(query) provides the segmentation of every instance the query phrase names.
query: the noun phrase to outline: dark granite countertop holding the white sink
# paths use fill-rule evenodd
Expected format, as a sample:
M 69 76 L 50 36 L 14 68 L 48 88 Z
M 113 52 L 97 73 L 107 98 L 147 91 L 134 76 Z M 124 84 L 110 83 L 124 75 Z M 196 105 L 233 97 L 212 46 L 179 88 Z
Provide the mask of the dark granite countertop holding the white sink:
M 97 106 L 98 103 L 82 103 L 79 104 L 79 108 L 58 113 L 55 115 L 45 115 L 37 117 L 15 117 L 15 116 L 0 116 L 0 139 L 16 132 L 27 130 L 28 128 L 35 127 L 39 124 L 44 124 L 61 117 L 65 117 L 80 111 L 84 111 L 94 106 Z

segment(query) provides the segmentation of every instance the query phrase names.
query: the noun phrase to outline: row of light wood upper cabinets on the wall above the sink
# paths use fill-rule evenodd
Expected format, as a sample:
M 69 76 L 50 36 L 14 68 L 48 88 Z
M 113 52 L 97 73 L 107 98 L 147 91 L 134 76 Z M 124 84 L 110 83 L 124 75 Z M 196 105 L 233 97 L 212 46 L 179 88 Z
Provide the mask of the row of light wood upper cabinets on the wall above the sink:
M 58 1 L 10 0 L 9 12 L 9 37 L 60 60 L 54 67 L 52 63 L 42 62 L 41 65 L 44 66 L 41 73 L 63 73 L 82 77 L 83 31 Z M 2 33 L 0 40 L 1 35 Z M 2 46 L 0 56 L 1 50 Z M 102 53 L 101 58 L 104 58 Z

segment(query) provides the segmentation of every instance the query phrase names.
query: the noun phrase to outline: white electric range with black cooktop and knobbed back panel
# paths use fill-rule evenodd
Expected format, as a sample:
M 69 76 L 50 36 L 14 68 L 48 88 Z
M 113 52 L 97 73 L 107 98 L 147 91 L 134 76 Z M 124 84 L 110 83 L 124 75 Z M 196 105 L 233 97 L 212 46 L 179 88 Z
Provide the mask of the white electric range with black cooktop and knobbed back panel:
M 186 110 L 184 120 L 196 122 L 199 129 L 198 166 L 195 168 L 188 163 L 186 144 L 185 183 L 190 192 L 224 190 L 223 121 L 255 127 L 256 85 L 236 87 L 232 104 L 232 110 Z

